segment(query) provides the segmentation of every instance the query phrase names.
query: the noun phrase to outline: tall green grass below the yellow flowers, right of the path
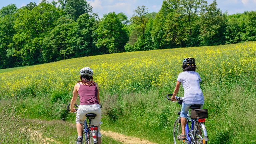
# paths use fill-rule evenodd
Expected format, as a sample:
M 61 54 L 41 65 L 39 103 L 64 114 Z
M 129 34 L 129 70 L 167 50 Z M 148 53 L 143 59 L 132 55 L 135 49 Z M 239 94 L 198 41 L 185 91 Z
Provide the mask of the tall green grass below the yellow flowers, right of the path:
M 254 90 L 247 91 L 236 86 L 230 92 L 219 93 L 209 89 L 203 93 L 204 108 L 209 110 L 209 117 L 205 122 L 209 143 L 255 143 Z M 167 100 L 165 93 L 149 91 L 144 94 L 123 95 L 123 101 L 119 106 L 123 111 L 121 116 L 115 121 L 111 115 L 108 116 L 103 121 L 107 123 L 103 129 L 139 136 L 156 143 L 173 141 L 173 124 L 180 106 Z

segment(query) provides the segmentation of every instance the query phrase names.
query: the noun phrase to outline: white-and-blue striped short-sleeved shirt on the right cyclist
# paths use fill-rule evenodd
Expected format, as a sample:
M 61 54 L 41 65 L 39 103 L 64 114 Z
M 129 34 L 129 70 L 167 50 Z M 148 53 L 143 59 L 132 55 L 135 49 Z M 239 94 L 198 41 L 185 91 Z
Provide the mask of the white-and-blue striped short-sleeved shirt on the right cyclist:
M 202 81 L 197 72 L 184 71 L 178 79 L 184 88 L 183 102 L 186 104 L 204 104 L 204 95 L 199 83 Z

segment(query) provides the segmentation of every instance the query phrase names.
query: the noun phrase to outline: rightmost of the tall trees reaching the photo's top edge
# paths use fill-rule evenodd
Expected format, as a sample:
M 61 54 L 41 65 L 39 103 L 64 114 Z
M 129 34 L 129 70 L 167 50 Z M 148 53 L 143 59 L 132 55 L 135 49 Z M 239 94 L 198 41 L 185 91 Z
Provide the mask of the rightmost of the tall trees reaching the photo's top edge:
M 214 0 L 210 5 L 204 5 L 201 13 L 200 44 L 220 45 L 225 43 L 226 14 L 217 8 Z

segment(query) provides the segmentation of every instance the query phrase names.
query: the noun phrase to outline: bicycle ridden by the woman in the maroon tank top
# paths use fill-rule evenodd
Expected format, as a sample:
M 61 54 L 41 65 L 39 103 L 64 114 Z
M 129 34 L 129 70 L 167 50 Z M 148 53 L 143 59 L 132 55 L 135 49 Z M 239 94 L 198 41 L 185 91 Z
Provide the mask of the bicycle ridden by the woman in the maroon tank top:
M 69 110 L 70 103 L 67 106 L 67 110 Z M 75 104 L 75 106 L 78 108 L 79 105 Z M 101 105 L 100 105 L 101 108 Z M 76 109 L 77 111 L 78 109 Z M 74 112 L 76 113 L 76 112 Z M 94 113 L 88 113 L 85 115 L 86 119 L 84 120 L 83 123 L 83 143 L 85 144 L 97 144 L 97 132 L 98 132 L 98 127 L 91 125 L 91 119 L 94 119 L 97 115 Z M 88 123 L 87 123 L 88 119 Z

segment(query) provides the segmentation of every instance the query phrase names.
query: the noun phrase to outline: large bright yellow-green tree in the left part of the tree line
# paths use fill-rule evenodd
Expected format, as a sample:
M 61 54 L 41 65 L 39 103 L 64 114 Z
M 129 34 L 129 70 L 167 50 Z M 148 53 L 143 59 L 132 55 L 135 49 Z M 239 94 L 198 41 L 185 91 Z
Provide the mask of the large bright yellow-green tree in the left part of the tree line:
M 61 12 L 50 3 L 40 3 L 31 11 L 19 9 L 14 28 L 13 43 L 8 46 L 8 55 L 17 57 L 17 65 L 41 63 L 42 40 L 54 27 Z

